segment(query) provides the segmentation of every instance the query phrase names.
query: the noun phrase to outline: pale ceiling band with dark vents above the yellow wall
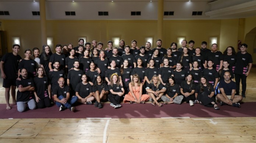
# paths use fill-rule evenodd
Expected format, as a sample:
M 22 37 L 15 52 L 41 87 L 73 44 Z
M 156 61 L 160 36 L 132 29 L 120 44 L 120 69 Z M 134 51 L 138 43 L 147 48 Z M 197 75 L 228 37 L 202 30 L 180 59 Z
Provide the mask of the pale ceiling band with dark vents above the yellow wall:
M 46 0 L 48 20 L 156 20 L 157 0 Z M 0 19 L 38 20 L 32 11 L 39 10 L 39 0 L 0 0 Z M 75 11 L 75 16 L 66 16 L 65 11 Z M 108 11 L 108 16 L 99 16 L 99 11 Z M 131 11 L 141 11 L 140 16 L 131 16 Z M 174 11 L 164 19 L 231 19 L 256 16 L 256 0 L 164 0 L 164 11 Z M 192 16 L 192 11 L 202 15 Z

